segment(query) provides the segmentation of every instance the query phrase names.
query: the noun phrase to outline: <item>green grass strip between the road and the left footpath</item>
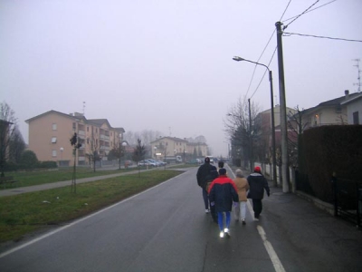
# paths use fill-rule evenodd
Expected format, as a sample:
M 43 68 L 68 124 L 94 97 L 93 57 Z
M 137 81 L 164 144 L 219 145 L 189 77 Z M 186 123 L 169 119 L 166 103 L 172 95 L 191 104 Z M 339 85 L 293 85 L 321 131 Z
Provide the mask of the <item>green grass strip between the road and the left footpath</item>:
M 154 170 L 129 174 L 71 187 L 30 192 L 0 198 L 0 243 L 19 241 L 26 234 L 61 225 L 127 199 L 138 192 L 169 180 L 179 170 Z

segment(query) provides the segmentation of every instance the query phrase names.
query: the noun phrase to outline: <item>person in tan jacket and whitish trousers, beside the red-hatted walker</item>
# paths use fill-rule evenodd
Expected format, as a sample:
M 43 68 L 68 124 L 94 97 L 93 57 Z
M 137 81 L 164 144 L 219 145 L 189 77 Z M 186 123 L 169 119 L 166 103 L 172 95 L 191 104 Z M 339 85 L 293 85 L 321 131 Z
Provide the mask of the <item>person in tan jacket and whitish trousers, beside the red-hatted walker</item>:
M 246 201 L 248 200 L 246 198 L 246 192 L 249 190 L 249 183 L 248 180 L 246 180 L 245 177 L 243 176 L 242 170 L 240 169 L 235 170 L 235 176 L 236 178 L 233 180 L 233 182 L 235 183 L 237 188 L 237 193 L 239 196 L 239 205 L 233 209 L 234 216 L 236 221 L 242 220 L 243 225 L 245 225 Z

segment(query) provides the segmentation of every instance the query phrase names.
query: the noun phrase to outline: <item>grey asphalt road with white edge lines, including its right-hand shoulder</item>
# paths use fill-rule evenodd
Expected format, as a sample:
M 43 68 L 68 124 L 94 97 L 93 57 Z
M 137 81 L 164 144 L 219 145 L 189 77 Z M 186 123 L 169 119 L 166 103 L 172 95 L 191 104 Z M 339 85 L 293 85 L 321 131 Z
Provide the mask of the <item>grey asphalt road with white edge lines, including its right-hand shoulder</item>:
M 218 238 L 195 172 L 1 253 L 0 270 L 362 271 L 361 232 L 281 189 Z

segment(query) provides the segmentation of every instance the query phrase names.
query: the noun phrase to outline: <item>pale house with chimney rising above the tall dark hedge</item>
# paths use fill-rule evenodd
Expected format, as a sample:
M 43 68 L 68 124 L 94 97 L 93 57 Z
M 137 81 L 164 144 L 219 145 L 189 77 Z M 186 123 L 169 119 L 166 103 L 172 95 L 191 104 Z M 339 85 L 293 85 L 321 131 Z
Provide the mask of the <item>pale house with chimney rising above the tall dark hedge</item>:
M 362 112 L 360 95 L 359 92 L 349 93 L 346 90 L 344 96 L 321 102 L 313 108 L 304 110 L 301 114 L 305 129 L 323 125 L 352 123 L 352 121 L 348 122 L 348 109 L 351 120 L 353 119 L 353 112 L 357 112 L 355 113 L 356 118 L 360 116 Z

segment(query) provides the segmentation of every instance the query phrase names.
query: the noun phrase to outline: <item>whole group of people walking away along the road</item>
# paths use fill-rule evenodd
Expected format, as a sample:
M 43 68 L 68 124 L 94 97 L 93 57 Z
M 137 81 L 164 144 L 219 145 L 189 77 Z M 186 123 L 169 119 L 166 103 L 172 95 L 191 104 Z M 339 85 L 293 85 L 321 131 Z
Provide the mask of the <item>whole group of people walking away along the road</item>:
M 197 170 L 196 180 L 203 192 L 205 212 L 211 213 L 214 222 L 218 224 L 220 238 L 230 237 L 232 209 L 234 219 L 245 225 L 247 199 L 252 199 L 254 219 L 259 220 L 264 190 L 270 196 L 268 181 L 259 166 L 247 178 L 243 176 L 242 170 L 235 170 L 235 179 L 232 180 L 227 176 L 223 161 L 219 161 L 217 170 L 210 164 L 210 158 L 206 157 L 205 163 Z

